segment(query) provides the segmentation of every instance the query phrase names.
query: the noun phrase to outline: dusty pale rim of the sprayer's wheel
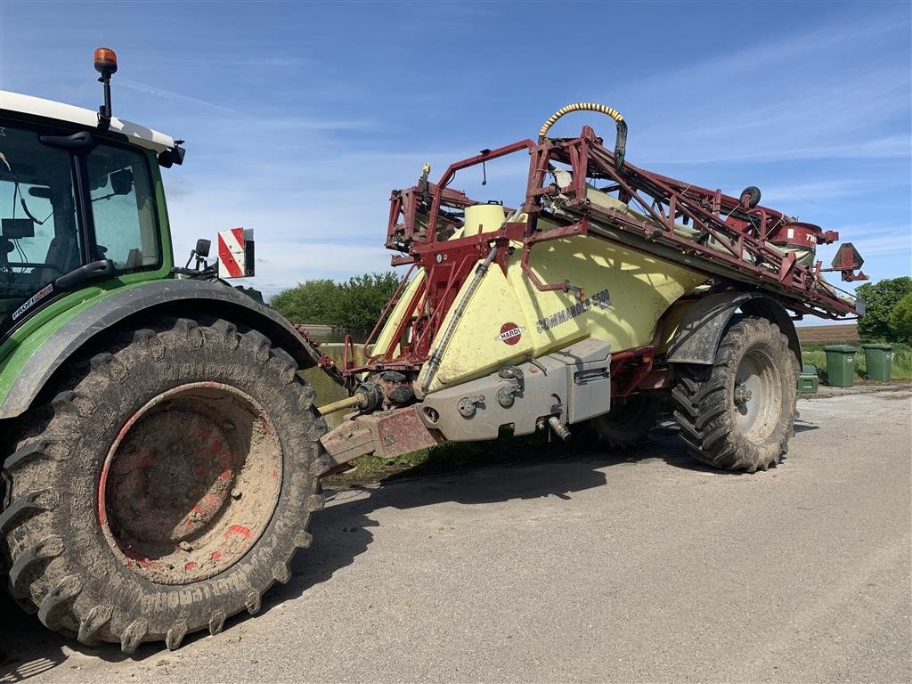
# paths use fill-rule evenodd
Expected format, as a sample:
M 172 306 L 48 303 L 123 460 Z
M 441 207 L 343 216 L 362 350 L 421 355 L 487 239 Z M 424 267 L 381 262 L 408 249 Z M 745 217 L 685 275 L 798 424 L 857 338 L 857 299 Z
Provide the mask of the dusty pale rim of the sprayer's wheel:
M 768 354 L 750 350 L 738 364 L 732 402 L 735 422 L 742 435 L 765 440 L 775 430 L 782 397 L 776 390 L 780 371 Z

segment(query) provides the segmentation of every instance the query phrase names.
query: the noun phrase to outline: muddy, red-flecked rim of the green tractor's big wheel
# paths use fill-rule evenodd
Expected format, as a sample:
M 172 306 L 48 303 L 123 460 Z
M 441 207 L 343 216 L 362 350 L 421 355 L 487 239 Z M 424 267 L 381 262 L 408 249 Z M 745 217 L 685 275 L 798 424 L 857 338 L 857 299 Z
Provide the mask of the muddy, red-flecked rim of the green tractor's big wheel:
M 282 445 L 259 404 L 222 383 L 189 383 L 119 431 L 98 478 L 98 523 L 133 572 L 191 584 L 256 544 L 281 487 Z

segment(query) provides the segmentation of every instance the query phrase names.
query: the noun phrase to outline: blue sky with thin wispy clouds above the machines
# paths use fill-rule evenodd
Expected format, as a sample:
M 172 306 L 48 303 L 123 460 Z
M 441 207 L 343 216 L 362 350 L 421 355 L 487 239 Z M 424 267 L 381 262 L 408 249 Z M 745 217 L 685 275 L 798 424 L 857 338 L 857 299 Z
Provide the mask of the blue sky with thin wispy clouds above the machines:
M 385 270 L 390 188 L 579 100 L 624 114 L 629 161 L 758 185 L 878 279 L 912 271 L 910 6 L 3 0 L 0 88 L 95 109 L 92 49 L 117 50 L 115 114 L 187 140 L 164 171 L 176 254 L 254 228 L 268 294 Z M 583 123 L 611 140 L 596 115 L 553 134 Z M 525 163 L 456 184 L 515 205 Z

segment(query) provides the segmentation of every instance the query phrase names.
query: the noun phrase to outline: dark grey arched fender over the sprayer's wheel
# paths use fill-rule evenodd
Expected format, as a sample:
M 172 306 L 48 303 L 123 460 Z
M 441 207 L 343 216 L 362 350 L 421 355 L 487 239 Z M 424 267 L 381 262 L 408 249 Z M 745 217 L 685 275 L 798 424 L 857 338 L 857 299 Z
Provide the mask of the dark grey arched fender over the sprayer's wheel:
M 702 297 L 681 318 L 668 346 L 668 363 L 710 365 L 722 335 L 739 309 L 746 316 L 766 318 L 779 326 L 800 367 L 801 344 L 792 318 L 779 302 L 759 292 L 720 292 Z

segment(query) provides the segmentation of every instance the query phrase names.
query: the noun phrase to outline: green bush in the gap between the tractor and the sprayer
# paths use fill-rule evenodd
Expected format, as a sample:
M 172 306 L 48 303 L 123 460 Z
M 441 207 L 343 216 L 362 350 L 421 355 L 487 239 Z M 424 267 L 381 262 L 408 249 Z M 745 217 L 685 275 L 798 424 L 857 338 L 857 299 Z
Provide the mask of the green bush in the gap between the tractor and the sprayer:
M 275 295 L 270 305 L 295 323 L 370 328 L 399 286 L 394 273 L 356 275 L 345 282 L 307 280 Z

